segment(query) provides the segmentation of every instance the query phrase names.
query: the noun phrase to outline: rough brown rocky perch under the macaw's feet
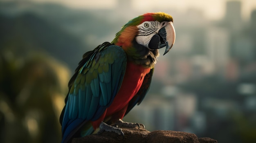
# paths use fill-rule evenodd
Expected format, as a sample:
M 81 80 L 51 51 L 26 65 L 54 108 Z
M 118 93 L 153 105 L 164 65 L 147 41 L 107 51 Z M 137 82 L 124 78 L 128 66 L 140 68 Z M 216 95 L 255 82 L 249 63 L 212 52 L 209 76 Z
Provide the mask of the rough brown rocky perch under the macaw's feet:
M 211 138 L 198 138 L 195 134 L 177 131 L 122 128 L 124 137 L 113 132 L 92 134 L 73 139 L 72 143 L 217 143 Z

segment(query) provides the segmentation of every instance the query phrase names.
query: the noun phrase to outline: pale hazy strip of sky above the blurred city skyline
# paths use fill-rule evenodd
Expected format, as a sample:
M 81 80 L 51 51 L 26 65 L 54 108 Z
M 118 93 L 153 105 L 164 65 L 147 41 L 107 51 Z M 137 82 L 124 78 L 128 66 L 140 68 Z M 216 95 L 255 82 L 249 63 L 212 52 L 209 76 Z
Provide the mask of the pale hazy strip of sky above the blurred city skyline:
M 37 2 L 57 2 L 73 8 L 112 8 L 117 6 L 118 0 L 31 0 Z M 126 0 L 125 0 L 126 1 Z M 203 11 L 209 19 L 220 19 L 224 15 L 226 1 L 230 0 L 131 0 L 136 9 L 150 10 L 161 8 L 175 8 L 184 12 L 188 8 Z M 238 0 L 242 2 L 242 16 L 248 19 L 252 9 L 256 9 L 256 0 Z M 154 12 L 154 11 L 148 11 Z

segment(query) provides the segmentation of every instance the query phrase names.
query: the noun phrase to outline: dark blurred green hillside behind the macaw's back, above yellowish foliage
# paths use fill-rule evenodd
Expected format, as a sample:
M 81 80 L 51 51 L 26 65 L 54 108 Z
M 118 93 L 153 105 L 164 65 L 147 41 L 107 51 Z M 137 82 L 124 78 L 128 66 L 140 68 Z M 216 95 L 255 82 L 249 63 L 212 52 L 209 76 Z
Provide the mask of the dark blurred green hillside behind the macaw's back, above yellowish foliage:
M 84 45 L 79 38 L 35 13 L 27 12 L 14 17 L 0 13 L 0 21 L 0 48 L 19 54 L 33 50 L 51 53 L 56 59 L 74 65 L 72 68 L 81 59 L 77 51 L 84 49 Z

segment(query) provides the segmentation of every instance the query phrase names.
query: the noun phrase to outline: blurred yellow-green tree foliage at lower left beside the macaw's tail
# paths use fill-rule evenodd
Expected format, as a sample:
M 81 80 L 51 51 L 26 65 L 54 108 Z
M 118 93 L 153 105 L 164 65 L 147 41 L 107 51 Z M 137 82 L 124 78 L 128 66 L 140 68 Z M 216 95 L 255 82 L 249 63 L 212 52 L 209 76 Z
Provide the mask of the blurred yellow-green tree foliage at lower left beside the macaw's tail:
M 0 53 L 0 142 L 61 141 L 58 117 L 70 71 L 42 53 Z

